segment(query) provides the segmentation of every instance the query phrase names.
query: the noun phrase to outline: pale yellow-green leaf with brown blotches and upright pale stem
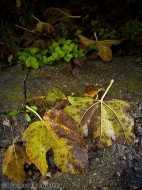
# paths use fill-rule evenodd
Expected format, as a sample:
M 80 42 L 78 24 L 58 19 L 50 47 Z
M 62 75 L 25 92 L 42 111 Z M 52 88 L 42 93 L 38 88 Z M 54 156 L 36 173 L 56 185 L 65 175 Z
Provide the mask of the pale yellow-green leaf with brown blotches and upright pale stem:
M 71 105 L 64 110 L 78 122 L 81 135 L 88 136 L 95 147 L 106 148 L 113 141 L 131 144 L 134 142 L 134 119 L 129 111 L 134 105 L 122 100 L 104 101 L 107 91 L 101 100 L 93 102 L 92 99 L 93 103 L 86 97 L 71 99 Z

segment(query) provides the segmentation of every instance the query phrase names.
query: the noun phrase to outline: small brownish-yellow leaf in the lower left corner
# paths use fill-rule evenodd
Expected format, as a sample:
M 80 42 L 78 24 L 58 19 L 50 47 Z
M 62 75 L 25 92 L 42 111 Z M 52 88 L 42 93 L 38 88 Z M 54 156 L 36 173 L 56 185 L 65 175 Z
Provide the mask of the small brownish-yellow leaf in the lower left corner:
M 23 147 L 16 144 L 9 146 L 4 154 L 2 172 L 10 180 L 22 183 L 26 179 L 24 164 L 28 157 Z

